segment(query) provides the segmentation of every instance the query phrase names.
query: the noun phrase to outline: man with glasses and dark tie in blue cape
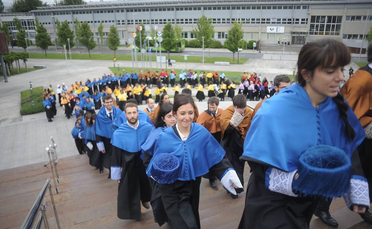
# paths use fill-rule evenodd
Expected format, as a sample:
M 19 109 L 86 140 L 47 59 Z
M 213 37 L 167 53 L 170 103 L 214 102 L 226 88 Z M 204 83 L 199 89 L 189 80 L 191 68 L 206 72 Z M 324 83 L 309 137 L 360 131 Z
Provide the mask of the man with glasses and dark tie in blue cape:
M 113 106 L 111 95 L 105 95 L 102 101 L 104 106 L 97 114 L 94 132 L 96 133 L 97 148 L 103 155 L 97 157 L 99 160 L 93 161 L 94 166 L 98 167 L 101 172 L 103 167 L 109 170 L 111 168 L 112 145 L 110 141 L 114 133 L 113 125 L 121 114 L 121 110 Z M 110 174 L 109 172 L 108 178 L 110 178 Z

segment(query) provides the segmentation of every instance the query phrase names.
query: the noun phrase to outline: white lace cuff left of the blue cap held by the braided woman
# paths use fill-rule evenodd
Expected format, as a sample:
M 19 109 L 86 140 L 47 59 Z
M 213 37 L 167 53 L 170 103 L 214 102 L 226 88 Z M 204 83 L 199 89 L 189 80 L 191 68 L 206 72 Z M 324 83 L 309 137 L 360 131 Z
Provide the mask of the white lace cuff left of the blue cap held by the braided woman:
M 279 169 L 271 168 L 266 170 L 265 186 L 273 192 L 282 193 L 288 196 L 298 196 L 292 191 L 293 177 L 297 170 L 285 172 Z

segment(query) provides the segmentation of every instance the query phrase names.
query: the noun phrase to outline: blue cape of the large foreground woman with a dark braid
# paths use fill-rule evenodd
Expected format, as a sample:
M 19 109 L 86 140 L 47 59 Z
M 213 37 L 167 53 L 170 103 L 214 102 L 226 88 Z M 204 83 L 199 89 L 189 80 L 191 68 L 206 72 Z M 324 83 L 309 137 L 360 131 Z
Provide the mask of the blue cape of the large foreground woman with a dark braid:
M 262 103 L 247 132 L 241 159 L 294 171 L 300 154 L 320 144 L 340 148 L 351 157 L 365 132 L 351 108 L 347 114 L 356 132 L 354 140 L 347 137 L 339 108 L 331 97 L 315 108 L 305 89 L 293 84 Z M 265 147 L 257 145 L 258 138 Z

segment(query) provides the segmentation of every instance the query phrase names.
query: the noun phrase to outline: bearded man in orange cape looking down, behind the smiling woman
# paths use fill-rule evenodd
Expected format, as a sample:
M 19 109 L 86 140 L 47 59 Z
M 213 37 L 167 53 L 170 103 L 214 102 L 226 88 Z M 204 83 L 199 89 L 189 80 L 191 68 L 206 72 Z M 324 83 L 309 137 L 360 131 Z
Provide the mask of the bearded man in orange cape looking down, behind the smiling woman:
M 219 123 L 219 119 L 221 117 L 222 112 L 224 109 L 218 108 L 219 99 L 218 97 L 214 96 L 208 99 L 208 109 L 203 111 L 196 123 L 205 127 L 209 133 L 217 140 L 219 143 L 221 141 L 221 125 Z M 217 190 L 218 186 L 216 184 L 216 177 L 212 176 L 211 174 L 207 173 L 203 176 L 206 179 L 209 179 L 209 184 L 211 185 L 212 189 Z

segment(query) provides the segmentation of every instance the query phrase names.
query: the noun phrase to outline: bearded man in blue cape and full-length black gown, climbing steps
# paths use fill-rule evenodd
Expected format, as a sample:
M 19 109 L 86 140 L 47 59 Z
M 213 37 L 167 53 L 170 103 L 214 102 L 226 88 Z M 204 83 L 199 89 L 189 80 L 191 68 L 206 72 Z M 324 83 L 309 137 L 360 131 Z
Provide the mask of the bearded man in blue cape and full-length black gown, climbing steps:
M 112 180 L 119 183 L 118 218 L 141 220 L 141 205 L 150 208 L 150 183 L 141 160 L 141 145 L 153 126 L 138 120 L 138 107 L 127 103 L 127 121 L 112 135 Z

